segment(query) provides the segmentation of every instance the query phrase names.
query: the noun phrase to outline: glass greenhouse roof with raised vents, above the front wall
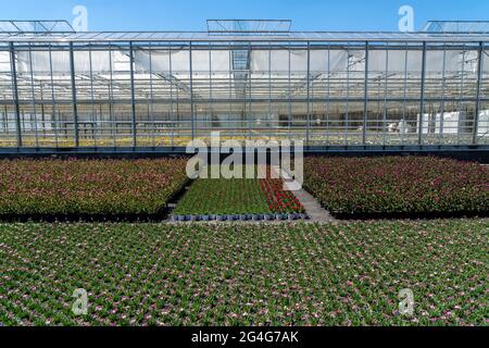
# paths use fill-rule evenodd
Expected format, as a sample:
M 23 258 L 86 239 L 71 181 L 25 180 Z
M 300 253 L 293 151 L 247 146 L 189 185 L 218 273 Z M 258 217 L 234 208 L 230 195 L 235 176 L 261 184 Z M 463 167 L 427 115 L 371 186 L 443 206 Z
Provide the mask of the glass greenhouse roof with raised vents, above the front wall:
M 206 32 L 75 33 L 66 21 L 0 21 L 0 41 L 434 41 L 489 40 L 489 22 L 430 21 L 423 30 L 291 32 L 290 20 L 208 20 Z

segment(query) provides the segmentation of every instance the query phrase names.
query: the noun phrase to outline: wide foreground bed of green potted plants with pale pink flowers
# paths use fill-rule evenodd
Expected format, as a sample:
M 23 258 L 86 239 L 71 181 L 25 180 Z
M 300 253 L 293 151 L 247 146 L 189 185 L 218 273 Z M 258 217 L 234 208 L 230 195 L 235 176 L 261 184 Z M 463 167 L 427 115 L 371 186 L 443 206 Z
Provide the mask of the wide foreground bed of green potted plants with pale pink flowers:
M 0 325 L 487 325 L 488 231 L 484 219 L 0 224 Z

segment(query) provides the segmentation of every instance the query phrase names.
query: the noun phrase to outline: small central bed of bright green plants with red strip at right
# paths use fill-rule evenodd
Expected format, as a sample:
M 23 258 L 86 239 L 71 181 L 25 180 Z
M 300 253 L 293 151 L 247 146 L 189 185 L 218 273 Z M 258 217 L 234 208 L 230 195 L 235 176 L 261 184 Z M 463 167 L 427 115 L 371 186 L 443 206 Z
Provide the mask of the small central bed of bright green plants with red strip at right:
M 278 178 L 199 178 L 177 203 L 174 216 L 222 215 L 241 220 L 241 215 L 303 213 L 304 209 Z M 229 219 L 229 215 L 236 215 Z M 263 220 L 260 217 L 256 220 Z

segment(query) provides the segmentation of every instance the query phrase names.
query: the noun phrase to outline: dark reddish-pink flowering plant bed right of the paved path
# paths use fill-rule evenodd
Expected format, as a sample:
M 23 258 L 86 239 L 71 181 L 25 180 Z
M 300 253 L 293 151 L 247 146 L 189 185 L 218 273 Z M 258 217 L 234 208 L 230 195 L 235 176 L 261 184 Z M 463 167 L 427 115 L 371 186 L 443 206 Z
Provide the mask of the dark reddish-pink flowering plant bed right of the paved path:
M 432 157 L 308 158 L 304 188 L 338 219 L 487 216 L 489 170 Z

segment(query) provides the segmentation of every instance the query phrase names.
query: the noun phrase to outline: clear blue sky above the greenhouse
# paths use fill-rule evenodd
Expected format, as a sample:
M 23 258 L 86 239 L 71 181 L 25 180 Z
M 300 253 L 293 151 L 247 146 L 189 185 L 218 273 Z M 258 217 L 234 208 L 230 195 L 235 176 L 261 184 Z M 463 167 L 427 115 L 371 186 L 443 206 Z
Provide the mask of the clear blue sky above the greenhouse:
M 203 30 L 206 18 L 290 18 L 294 30 L 398 30 L 398 10 L 427 20 L 488 20 L 486 0 L 0 0 L 2 20 L 74 18 L 88 9 L 89 30 Z

